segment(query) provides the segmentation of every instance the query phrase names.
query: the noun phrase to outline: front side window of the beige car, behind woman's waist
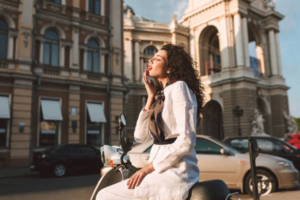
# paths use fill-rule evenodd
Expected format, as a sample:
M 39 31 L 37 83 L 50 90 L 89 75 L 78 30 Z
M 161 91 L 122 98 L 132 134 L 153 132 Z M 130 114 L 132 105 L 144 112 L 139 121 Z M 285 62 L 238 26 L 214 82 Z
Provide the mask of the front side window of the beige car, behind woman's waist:
M 220 150 L 222 147 L 208 139 L 197 137 L 194 148 L 196 153 L 200 154 L 221 154 Z

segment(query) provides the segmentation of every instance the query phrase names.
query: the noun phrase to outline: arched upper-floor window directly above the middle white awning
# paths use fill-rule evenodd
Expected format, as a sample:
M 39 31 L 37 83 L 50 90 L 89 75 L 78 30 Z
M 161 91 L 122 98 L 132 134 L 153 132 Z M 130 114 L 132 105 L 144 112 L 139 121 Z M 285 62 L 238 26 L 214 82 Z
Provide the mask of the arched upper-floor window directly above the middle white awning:
M 43 63 L 58 66 L 59 37 L 56 32 L 49 30 L 45 32 Z

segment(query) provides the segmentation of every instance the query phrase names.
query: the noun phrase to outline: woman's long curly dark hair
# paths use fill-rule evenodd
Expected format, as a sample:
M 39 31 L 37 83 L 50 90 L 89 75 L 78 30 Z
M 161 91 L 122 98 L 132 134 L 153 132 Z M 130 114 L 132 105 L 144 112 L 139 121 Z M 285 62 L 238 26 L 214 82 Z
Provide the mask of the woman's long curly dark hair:
M 186 48 L 179 45 L 165 44 L 160 50 L 167 52 L 167 69 L 170 71 L 167 74 L 168 82 L 171 84 L 177 80 L 182 80 L 196 95 L 198 126 L 201 115 L 203 114 L 205 95 L 203 93 L 204 86 L 201 83 L 199 71 L 196 70 L 197 62 L 187 53 Z

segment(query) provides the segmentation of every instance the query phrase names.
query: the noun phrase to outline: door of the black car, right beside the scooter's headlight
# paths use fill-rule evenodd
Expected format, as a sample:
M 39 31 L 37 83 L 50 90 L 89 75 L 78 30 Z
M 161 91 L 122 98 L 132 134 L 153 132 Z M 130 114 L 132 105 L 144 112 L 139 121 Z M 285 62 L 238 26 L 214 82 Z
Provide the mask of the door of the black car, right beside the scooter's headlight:
M 88 169 L 100 168 L 101 166 L 101 155 L 99 151 L 90 147 L 81 145 L 80 146 L 80 160 L 82 161 L 82 167 Z

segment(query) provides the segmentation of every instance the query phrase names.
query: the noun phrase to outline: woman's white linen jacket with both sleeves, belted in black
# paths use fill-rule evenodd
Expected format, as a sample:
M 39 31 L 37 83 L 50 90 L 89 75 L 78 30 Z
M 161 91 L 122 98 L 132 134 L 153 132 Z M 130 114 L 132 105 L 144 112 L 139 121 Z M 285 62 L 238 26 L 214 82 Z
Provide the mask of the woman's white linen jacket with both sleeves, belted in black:
M 196 152 L 195 94 L 183 81 L 164 89 L 162 120 L 165 139 L 177 137 L 172 144 L 153 144 L 148 162 L 154 171 L 145 175 L 134 189 L 137 199 L 185 199 L 188 190 L 199 180 Z M 141 110 L 136 122 L 134 139 L 142 143 L 151 140 L 148 128 L 149 111 Z

